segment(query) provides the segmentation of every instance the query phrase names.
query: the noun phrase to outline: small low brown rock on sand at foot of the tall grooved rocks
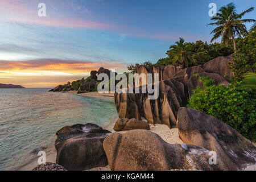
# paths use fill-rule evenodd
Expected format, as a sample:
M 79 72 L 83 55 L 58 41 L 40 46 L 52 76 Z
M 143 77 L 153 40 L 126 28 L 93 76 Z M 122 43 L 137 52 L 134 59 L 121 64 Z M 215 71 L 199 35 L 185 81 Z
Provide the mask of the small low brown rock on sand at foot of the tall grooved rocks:
M 150 125 L 146 121 L 139 121 L 137 119 L 119 118 L 115 122 L 115 131 L 144 129 L 150 130 Z

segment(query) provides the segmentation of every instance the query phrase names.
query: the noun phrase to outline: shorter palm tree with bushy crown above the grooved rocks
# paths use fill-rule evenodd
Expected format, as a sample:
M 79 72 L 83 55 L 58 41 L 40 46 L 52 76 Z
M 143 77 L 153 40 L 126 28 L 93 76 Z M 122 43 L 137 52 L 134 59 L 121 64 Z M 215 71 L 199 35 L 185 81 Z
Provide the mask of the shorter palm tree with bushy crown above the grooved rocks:
M 193 57 L 195 52 L 187 51 L 184 42 L 184 39 L 180 38 L 179 41 L 175 42 L 176 45 L 170 46 L 170 50 L 168 52 L 174 55 L 172 64 L 180 63 L 183 68 L 186 68 L 190 63 L 195 63 L 195 59 Z

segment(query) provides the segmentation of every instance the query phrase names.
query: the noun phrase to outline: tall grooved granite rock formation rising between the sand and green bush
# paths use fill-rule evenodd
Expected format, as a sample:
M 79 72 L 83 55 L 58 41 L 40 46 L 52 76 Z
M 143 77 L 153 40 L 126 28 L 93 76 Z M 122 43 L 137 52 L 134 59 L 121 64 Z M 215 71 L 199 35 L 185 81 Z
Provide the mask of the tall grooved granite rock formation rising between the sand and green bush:
M 213 63 L 214 61 L 216 63 Z M 163 78 L 171 77 L 159 82 L 158 99 L 149 100 L 148 93 L 141 94 L 141 92 L 136 94 L 115 93 L 115 107 L 117 108 L 119 118 L 141 120 L 141 117 L 143 117 L 151 124 L 160 123 L 169 127 L 176 127 L 177 110 L 179 107 L 187 105 L 193 89 L 197 86 L 203 87 L 203 82 L 200 82 L 199 76 L 208 75 L 217 85 L 229 84 L 222 75 L 233 74 L 229 70 L 228 61 L 230 60 L 226 57 L 219 57 L 214 59 L 214 61 L 211 60 L 205 63 L 204 69 L 201 66 L 181 69 L 181 67 L 168 65 L 164 67 L 164 70 L 163 67 L 154 67 L 153 72 L 160 73 Z M 213 67 L 209 68 L 209 65 Z M 225 68 L 225 71 L 222 71 L 221 65 Z M 213 71 L 217 73 L 213 73 Z M 137 72 L 147 74 L 152 73 L 152 70 L 141 65 L 138 67 Z M 218 75 L 218 73 L 222 75 Z

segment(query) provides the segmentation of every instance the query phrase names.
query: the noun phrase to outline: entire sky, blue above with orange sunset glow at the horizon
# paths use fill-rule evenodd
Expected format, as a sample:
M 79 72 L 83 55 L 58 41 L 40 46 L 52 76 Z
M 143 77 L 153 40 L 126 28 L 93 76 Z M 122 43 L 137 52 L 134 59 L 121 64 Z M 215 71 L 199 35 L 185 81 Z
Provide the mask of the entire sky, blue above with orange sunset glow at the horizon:
M 0 83 L 52 88 L 100 67 L 121 73 L 128 64 L 166 57 L 180 37 L 209 43 L 209 3 L 255 0 L 0 0 Z M 46 5 L 40 17 L 39 3 Z M 244 16 L 256 19 L 256 10 Z M 246 24 L 250 28 L 251 24 Z

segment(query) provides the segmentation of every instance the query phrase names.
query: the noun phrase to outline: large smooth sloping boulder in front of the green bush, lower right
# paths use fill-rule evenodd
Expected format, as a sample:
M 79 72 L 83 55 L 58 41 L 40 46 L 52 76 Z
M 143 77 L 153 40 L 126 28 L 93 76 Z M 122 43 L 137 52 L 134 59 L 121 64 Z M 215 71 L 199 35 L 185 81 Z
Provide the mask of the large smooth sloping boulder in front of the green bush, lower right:
M 179 137 L 184 143 L 204 147 L 217 154 L 217 165 L 240 170 L 256 164 L 256 147 L 232 127 L 195 109 L 181 107 L 177 114 Z

